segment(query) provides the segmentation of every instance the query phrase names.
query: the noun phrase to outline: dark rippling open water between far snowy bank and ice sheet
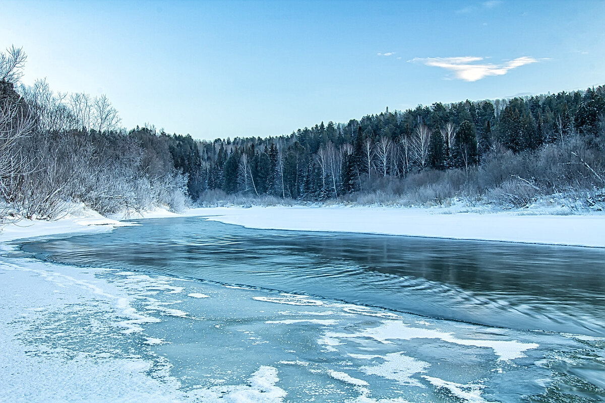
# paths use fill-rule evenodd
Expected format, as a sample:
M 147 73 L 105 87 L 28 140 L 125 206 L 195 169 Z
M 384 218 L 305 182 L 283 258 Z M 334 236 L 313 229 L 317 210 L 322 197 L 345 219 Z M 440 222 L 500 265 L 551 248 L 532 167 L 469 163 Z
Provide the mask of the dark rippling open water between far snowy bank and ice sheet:
M 605 251 L 251 230 L 199 218 L 24 245 L 77 265 L 336 298 L 514 329 L 605 334 Z

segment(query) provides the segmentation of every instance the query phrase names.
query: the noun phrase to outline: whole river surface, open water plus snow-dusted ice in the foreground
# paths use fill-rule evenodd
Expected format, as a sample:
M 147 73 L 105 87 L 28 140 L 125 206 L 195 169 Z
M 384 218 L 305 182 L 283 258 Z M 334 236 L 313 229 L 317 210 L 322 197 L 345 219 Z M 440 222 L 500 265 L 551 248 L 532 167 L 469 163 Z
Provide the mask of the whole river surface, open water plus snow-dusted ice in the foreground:
M 4 259 L 0 400 L 605 401 L 604 250 L 142 224 Z

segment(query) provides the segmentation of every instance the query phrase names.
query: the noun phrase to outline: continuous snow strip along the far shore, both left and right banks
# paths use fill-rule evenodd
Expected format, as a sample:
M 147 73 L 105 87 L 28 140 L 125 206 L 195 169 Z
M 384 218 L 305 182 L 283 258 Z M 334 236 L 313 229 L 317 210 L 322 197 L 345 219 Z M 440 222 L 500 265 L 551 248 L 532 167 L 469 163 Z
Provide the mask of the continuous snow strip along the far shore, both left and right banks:
M 58 221 L 29 221 L 2 228 L 0 243 L 68 233 L 111 231 L 140 219 L 195 217 L 265 230 L 367 233 L 443 239 L 488 240 L 605 248 L 605 214 L 552 215 L 545 211 L 460 212 L 447 208 L 391 207 L 204 207 L 181 214 L 157 209 L 132 221 L 91 210 Z M 536 214 L 538 213 L 538 214 Z

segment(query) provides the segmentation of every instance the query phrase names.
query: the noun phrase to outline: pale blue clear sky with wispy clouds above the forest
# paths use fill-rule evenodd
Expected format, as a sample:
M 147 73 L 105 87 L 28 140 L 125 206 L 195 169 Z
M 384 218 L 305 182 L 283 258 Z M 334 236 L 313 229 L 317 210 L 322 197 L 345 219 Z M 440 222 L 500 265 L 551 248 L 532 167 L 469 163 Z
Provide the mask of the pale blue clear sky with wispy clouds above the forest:
M 605 84 L 597 0 L 0 0 L 0 15 L 26 85 L 206 140 Z

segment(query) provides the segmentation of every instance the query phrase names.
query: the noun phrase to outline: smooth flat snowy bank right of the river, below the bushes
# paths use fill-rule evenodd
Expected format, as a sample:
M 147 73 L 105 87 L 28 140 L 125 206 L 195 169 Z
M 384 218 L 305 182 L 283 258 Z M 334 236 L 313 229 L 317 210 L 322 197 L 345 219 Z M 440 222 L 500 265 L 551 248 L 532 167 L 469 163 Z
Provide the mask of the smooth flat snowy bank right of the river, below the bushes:
M 452 213 L 442 208 L 214 207 L 187 216 L 247 228 L 329 231 L 605 248 L 605 214 Z

